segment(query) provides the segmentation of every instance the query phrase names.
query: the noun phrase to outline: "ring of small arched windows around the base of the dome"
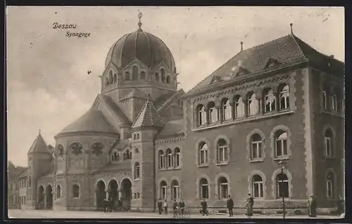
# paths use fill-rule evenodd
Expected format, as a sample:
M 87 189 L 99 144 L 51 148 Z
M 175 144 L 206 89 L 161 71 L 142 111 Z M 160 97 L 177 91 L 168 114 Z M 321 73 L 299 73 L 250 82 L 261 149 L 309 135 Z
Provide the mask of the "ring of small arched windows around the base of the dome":
M 137 66 L 132 67 L 132 73 L 126 71 L 124 74 L 124 79 L 126 81 L 133 81 L 133 80 L 148 80 L 148 81 L 156 81 L 156 82 L 162 82 L 163 84 L 170 84 L 171 83 L 171 76 L 170 74 L 166 74 L 165 69 L 161 69 L 160 73 L 155 72 L 154 75 L 149 75 L 149 77 L 146 76 L 146 72 L 141 71 L 139 72 Z M 104 81 L 104 86 L 108 86 L 111 84 L 115 83 L 120 83 L 121 80 L 121 75 L 118 74 L 116 75 L 115 73 L 113 74 L 113 71 L 110 71 L 108 76 L 106 76 L 105 81 Z

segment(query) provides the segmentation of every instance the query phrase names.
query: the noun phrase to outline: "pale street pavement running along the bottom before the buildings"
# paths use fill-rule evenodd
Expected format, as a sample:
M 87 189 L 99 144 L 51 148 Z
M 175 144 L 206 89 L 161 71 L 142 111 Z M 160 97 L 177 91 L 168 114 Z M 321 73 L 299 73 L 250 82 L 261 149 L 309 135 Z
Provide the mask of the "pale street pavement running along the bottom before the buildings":
M 99 211 L 39 211 L 39 210 L 9 210 L 9 218 L 172 218 L 172 214 L 159 215 L 158 213 L 144 212 L 114 212 L 103 213 Z M 227 214 L 213 214 L 201 216 L 191 214 L 184 218 L 230 218 Z M 234 216 L 232 218 L 246 218 L 246 216 Z M 282 216 L 255 215 L 253 218 L 282 218 Z M 287 218 L 308 218 L 307 216 L 287 216 Z M 336 219 L 338 216 L 318 216 L 317 218 Z

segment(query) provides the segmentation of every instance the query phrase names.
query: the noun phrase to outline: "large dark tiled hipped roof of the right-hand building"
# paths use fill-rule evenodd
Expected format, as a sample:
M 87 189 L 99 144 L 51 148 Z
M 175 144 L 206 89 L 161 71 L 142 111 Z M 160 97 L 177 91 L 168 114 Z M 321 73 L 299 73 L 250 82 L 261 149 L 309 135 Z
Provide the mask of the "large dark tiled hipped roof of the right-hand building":
M 249 49 L 245 49 L 234 55 L 233 58 L 225 62 L 224 65 L 215 70 L 206 79 L 203 79 L 199 84 L 194 86 L 186 95 L 201 91 L 206 88 L 213 77 L 228 77 L 235 67 L 241 65 L 246 68 L 248 74 L 241 75 L 251 76 L 258 72 L 266 72 L 268 62 L 277 62 L 277 68 L 287 67 L 289 65 L 298 65 L 302 62 L 310 62 L 312 65 L 322 66 L 328 71 L 344 74 L 344 63 L 327 55 L 323 55 L 315 51 L 311 46 L 296 37 L 294 34 L 289 34 L 284 37 L 269 41 L 265 44 L 260 44 Z M 236 79 L 236 76 L 233 77 Z M 220 81 L 221 82 L 221 81 Z M 225 79 L 224 81 L 225 82 Z

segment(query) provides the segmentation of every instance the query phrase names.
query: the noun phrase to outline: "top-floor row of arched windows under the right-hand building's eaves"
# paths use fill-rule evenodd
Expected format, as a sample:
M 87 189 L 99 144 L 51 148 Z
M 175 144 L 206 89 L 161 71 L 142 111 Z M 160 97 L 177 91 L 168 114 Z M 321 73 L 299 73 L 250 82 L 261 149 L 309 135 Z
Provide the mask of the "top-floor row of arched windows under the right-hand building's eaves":
M 261 100 L 258 100 L 256 93 L 249 93 L 245 99 L 241 95 L 235 95 L 233 99 L 223 98 L 220 107 L 217 107 L 213 101 L 207 105 L 197 105 L 196 124 L 203 126 L 215 124 L 218 121 L 252 117 L 256 116 L 261 108 L 264 113 L 289 110 L 289 86 L 280 84 L 278 92 L 277 95 L 272 88 L 265 88 Z M 260 105 L 261 102 L 263 105 Z

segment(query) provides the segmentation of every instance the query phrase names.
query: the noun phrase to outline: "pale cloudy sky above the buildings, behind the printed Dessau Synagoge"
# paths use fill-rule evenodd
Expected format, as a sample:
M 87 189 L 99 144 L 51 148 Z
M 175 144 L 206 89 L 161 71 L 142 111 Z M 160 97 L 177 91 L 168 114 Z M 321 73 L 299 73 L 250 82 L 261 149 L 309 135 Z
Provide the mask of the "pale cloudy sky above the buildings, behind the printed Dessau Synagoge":
M 188 91 L 240 50 L 294 34 L 344 61 L 344 8 L 318 7 L 34 7 L 7 8 L 8 160 L 27 166 L 39 129 L 46 143 L 89 110 L 101 90 L 109 48 L 142 29 L 175 58 Z M 53 29 L 53 23 L 77 25 Z M 90 33 L 65 37 L 67 31 Z M 92 71 L 87 74 L 87 71 Z

